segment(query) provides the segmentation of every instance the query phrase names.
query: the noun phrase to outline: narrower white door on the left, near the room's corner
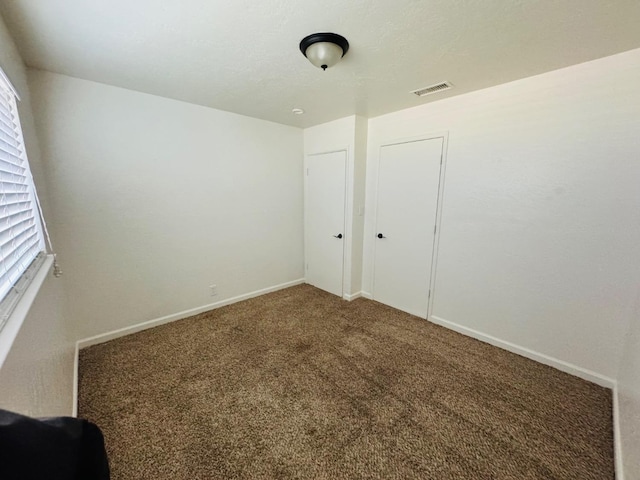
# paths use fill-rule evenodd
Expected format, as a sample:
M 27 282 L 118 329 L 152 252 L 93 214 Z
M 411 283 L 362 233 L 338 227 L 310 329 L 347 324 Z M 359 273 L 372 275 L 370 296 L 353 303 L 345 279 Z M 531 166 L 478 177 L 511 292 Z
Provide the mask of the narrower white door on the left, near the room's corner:
M 307 157 L 306 282 L 342 296 L 346 152 Z

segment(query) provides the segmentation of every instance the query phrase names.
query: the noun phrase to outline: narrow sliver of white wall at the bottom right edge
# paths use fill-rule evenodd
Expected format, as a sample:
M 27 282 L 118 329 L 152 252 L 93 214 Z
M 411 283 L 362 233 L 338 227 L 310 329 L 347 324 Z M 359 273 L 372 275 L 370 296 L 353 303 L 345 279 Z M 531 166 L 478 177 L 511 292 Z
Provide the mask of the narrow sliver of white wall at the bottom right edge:
M 640 478 L 640 294 L 618 373 L 618 419 L 625 478 Z

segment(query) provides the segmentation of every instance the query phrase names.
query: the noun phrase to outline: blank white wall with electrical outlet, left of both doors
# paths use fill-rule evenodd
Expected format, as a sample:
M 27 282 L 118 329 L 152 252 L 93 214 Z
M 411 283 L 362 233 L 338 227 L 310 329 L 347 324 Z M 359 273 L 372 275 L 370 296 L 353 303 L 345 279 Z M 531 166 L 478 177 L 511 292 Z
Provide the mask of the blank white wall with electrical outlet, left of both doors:
M 301 129 L 29 79 L 77 337 L 303 277 Z

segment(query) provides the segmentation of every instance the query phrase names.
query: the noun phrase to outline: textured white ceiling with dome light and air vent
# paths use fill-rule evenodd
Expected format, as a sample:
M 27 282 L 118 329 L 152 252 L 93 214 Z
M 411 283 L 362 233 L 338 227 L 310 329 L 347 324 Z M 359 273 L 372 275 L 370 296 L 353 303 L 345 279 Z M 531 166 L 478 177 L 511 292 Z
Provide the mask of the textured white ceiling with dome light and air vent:
M 300 127 L 640 47 L 638 0 L 3 0 L 0 13 L 31 67 Z M 298 50 L 319 31 L 351 44 L 326 72 Z M 455 88 L 409 94 L 443 80 Z

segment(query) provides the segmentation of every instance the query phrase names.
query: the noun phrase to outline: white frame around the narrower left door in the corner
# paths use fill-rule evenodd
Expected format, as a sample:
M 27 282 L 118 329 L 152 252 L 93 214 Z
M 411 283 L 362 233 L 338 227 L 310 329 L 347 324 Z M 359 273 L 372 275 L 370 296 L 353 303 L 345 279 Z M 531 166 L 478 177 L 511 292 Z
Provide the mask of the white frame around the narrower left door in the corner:
M 308 248 L 308 237 L 307 234 L 309 232 L 309 212 L 308 212 L 308 208 L 309 208 L 309 200 L 308 200 L 308 195 L 309 195 L 309 188 L 308 188 L 308 183 L 309 183 L 309 175 L 307 174 L 307 169 L 309 168 L 309 164 L 308 164 L 308 158 L 309 157 L 317 157 L 320 155 L 327 155 L 330 153 L 340 153 L 340 152 L 344 152 L 344 211 L 343 211 L 343 218 L 344 218 L 344 225 L 342 226 L 342 293 L 341 293 L 341 298 L 344 298 L 344 292 L 345 292 L 345 287 L 348 284 L 348 282 L 351 281 L 351 236 L 352 236 L 352 232 L 349 229 L 349 231 L 347 231 L 347 226 L 351 225 L 351 220 L 350 218 L 348 218 L 351 209 L 348 208 L 349 206 L 349 172 L 350 172 L 350 168 L 349 168 L 349 149 L 348 148 L 339 148 L 336 150 L 327 150 L 327 151 L 322 151 L 322 152 L 315 152 L 315 153 L 308 153 L 304 156 L 304 162 L 303 162 L 303 176 L 304 176 L 304 277 L 305 277 L 305 281 L 307 278 L 307 270 L 308 270 L 308 258 L 307 258 L 307 252 L 309 251 Z

